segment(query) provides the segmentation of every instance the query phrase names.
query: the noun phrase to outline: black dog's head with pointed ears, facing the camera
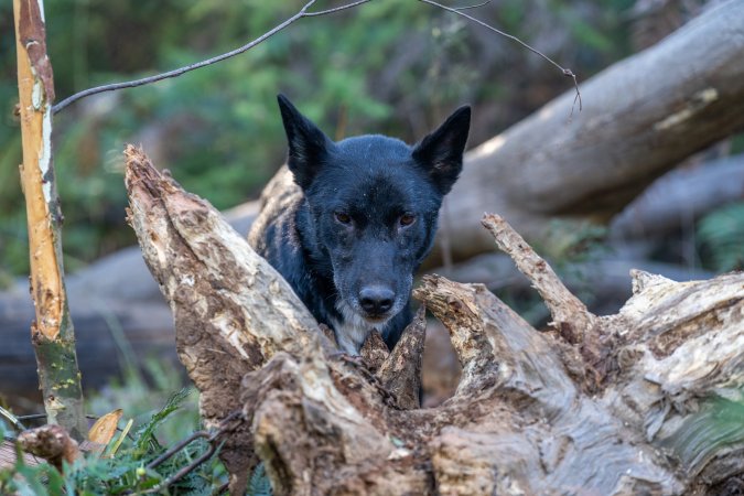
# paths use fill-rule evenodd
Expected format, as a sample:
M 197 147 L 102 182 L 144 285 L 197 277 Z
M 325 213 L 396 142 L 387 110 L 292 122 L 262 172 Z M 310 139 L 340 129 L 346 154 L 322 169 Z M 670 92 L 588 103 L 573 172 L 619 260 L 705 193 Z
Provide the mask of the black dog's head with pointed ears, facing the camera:
M 410 298 L 431 249 L 442 197 L 462 170 L 470 107 L 409 147 L 384 136 L 334 142 L 282 95 L 289 169 L 309 215 L 303 246 L 333 277 L 345 320 L 380 327 Z

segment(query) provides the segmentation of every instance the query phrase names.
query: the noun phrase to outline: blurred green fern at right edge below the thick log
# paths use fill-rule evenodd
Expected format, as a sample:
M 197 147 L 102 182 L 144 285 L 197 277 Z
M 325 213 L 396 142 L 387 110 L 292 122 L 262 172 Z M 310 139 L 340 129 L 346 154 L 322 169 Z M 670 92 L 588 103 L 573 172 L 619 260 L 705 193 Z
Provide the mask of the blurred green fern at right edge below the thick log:
M 726 205 L 704 216 L 698 238 L 705 265 L 719 272 L 744 268 L 744 203 Z

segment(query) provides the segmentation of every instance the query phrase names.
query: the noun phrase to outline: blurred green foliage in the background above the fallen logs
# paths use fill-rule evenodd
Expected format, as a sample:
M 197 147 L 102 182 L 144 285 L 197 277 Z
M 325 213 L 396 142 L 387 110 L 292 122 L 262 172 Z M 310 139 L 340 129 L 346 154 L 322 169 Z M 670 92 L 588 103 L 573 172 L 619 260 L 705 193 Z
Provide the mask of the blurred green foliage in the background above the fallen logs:
M 0 3 L 0 46 L 8 54 L 14 45 L 11 3 Z M 46 2 L 57 100 L 235 48 L 302 3 Z M 627 4 L 508 0 L 472 13 L 527 42 L 567 33 L 559 36 L 565 40 L 562 46 L 540 47 L 567 66 L 575 66 L 580 57 L 581 74 L 586 75 L 627 53 L 627 29 L 619 17 Z M 518 45 L 419 2 L 380 0 L 303 19 L 233 60 L 176 79 L 91 97 L 55 116 L 66 268 L 74 271 L 134 242 L 125 226 L 126 142 L 141 142 L 158 166 L 226 208 L 255 197 L 284 158 L 274 101 L 279 91 L 336 139 L 385 132 L 414 141 L 470 101 L 478 108 L 471 139 L 476 144 L 567 87 L 565 78 Z M 2 57 L 0 283 L 28 273 L 29 263 L 17 172 L 19 128 L 12 117 L 15 91 L 14 57 Z

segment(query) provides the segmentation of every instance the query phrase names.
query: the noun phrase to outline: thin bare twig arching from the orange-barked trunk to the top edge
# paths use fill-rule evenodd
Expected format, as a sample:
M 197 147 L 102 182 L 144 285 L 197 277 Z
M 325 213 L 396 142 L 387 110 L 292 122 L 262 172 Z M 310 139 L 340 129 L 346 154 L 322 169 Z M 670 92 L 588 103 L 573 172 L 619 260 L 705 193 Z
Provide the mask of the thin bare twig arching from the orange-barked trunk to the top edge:
M 176 69 L 173 69 L 173 71 L 169 71 L 166 73 L 157 74 L 154 76 L 149 76 L 149 77 L 143 77 L 141 79 L 134 79 L 134 80 L 129 80 L 129 82 L 123 82 L 123 83 L 114 83 L 114 84 L 109 84 L 109 85 L 96 86 L 95 88 L 84 89 L 83 91 L 76 93 L 75 95 L 72 95 L 72 96 L 65 98 L 64 100 L 60 101 L 57 105 L 52 107 L 52 112 L 56 114 L 60 110 L 67 107 L 68 105 L 74 104 L 75 101 L 79 100 L 80 98 L 85 98 L 85 97 L 90 96 L 90 95 L 97 95 L 99 93 L 105 93 L 105 91 L 112 91 L 112 90 L 116 90 L 116 89 L 134 88 L 137 86 L 143 86 L 143 85 L 148 85 L 148 84 L 151 84 L 151 83 L 157 83 L 157 82 L 162 80 L 162 79 L 168 79 L 168 78 L 171 78 L 171 77 L 179 77 L 182 74 L 188 73 L 191 71 L 202 68 L 202 67 L 205 67 L 207 65 L 212 65 L 212 64 L 215 64 L 217 62 L 222 62 L 222 61 L 225 61 L 227 58 L 239 55 L 244 52 L 247 52 L 250 48 L 252 48 L 254 46 L 258 45 L 259 43 L 265 42 L 269 37 L 273 36 L 278 32 L 282 31 L 284 28 L 292 24 L 293 22 L 295 22 L 299 19 L 312 18 L 312 17 L 317 17 L 317 15 L 326 15 L 326 14 L 339 12 L 342 10 L 351 9 L 353 7 L 360 6 L 362 3 L 366 3 L 366 2 L 369 2 L 371 0 L 357 0 L 357 1 L 354 1 L 352 3 L 347 3 L 345 6 L 335 7 L 333 9 L 321 10 L 321 11 L 317 11 L 317 12 L 308 12 L 308 9 L 310 9 L 315 3 L 315 1 L 316 0 L 310 0 L 308 3 L 304 4 L 304 7 L 302 9 L 300 9 L 300 11 L 298 13 L 295 13 L 291 18 L 287 19 L 281 24 L 276 25 L 270 31 L 267 31 L 266 33 L 261 34 L 260 36 L 258 36 L 256 40 L 251 41 L 250 43 L 240 46 L 239 48 L 235 48 L 235 50 L 233 50 L 230 52 L 227 52 L 227 53 L 224 53 L 222 55 L 217 55 L 217 56 L 207 58 L 207 60 L 202 61 L 202 62 L 197 62 L 197 63 L 194 63 L 194 64 L 191 64 L 191 65 L 186 65 L 184 67 L 180 67 L 180 68 L 176 68 Z

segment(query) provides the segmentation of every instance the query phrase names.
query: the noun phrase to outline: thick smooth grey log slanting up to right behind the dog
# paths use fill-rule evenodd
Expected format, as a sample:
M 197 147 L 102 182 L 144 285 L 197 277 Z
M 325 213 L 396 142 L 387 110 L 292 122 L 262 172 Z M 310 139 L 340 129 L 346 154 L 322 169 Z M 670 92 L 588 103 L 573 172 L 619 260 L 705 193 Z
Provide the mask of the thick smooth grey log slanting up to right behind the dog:
M 569 90 L 468 152 L 440 228 L 452 259 L 492 249 L 483 212 L 529 241 L 557 216 L 606 222 L 681 160 L 741 130 L 742 57 L 744 3 L 725 1 L 582 83 L 581 112 Z

